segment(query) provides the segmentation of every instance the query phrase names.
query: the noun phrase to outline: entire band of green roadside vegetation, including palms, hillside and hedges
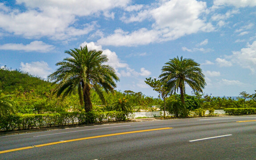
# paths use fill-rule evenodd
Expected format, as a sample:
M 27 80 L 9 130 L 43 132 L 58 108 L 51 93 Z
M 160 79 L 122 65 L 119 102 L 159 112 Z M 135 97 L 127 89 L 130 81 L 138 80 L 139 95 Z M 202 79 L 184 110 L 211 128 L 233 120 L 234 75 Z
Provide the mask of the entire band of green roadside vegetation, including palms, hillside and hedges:
M 130 90 L 117 91 L 119 78 L 104 63 L 102 51 L 74 48 L 48 80 L 20 70 L 0 69 L 0 131 L 121 121 L 132 112 L 164 111 L 175 117 L 204 116 L 215 109 L 227 114 L 255 114 L 256 93 L 214 97 L 206 86 L 200 65 L 192 59 L 170 59 L 159 79 L 146 78 L 158 98 Z M 187 95 L 185 85 L 192 88 Z M 179 94 L 178 94 L 179 93 Z M 155 107 L 155 106 L 158 106 Z

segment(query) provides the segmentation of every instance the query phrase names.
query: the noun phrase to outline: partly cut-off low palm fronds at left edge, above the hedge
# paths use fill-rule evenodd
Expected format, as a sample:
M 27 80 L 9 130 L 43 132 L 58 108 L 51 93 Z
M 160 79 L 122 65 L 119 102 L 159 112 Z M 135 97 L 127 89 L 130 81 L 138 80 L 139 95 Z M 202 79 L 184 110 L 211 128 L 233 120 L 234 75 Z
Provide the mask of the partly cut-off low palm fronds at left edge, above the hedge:
M 4 95 L 0 90 L 0 118 L 4 118 L 8 113 L 14 112 L 13 101 L 10 99 L 12 95 Z

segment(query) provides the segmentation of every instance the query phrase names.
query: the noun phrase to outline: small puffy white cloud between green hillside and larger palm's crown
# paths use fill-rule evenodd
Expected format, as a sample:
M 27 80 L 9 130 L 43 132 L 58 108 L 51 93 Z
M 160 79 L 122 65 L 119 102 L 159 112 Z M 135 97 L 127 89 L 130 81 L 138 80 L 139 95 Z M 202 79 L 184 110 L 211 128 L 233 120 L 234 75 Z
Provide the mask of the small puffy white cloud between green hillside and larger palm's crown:
M 45 61 L 37 61 L 31 63 L 23 63 L 21 62 L 21 71 L 29 72 L 32 75 L 40 76 L 42 78 L 47 78 L 48 75 L 51 74 L 51 68 L 49 68 L 48 64 Z

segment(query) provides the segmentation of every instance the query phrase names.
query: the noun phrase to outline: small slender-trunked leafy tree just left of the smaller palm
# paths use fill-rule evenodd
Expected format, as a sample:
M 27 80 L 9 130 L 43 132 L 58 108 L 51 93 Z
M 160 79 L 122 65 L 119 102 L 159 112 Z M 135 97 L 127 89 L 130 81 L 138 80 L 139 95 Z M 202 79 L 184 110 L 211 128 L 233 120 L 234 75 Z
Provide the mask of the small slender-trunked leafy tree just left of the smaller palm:
M 157 80 L 156 78 L 151 79 L 151 77 L 146 78 L 145 83 L 149 84 L 149 86 L 152 87 L 154 91 L 157 91 L 159 93 L 159 96 L 161 96 L 161 98 L 164 100 L 164 118 L 165 118 L 165 98 L 168 96 L 170 92 L 168 90 L 168 87 L 166 87 L 166 85 L 160 80 Z

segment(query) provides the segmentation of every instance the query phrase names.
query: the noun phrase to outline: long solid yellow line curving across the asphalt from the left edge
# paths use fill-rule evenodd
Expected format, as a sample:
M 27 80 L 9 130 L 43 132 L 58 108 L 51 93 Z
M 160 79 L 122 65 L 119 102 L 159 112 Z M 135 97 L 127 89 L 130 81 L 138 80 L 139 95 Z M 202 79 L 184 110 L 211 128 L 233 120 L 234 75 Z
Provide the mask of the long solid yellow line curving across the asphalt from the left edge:
M 107 137 L 107 136 L 117 136 L 117 135 L 124 135 L 124 134 L 131 134 L 131 133 L 139 133 L 139 132 L 158 131 L 158 130 L 164 130 L 164 129 L 172 129 L 172 128 L 146 129 L 146 130 L 132 131 L 132 132 L 113 133 L 113 134 L 107 134 L 107 135 L 101 135 L 101 136 L 91 136 L 91 137 L 78 138 L 78 139 L 73 139 L 73 140 L 63 140 L 63 141 L 59 141 L 59 142 L 53 142 L 53 143 L 47 143 L 47 144 L 39 144 L 39 145 L 34 145 L 34 146 L 29 146 L 29 147 L 23 147 L 23 148 L 16 148 L 16 149 L 10 149 L 10 150 L 5 150 L 5 151 L 0 151 L 0 154 L 1 154 L 1 153 L 6 153 L 6 152 L 13 152 L 13 151 L 18 151 L 18 150 L 23 150 L 23 149 L 34 148 L 34 147 L 42 147 L 42 146 L 53 145 L 53 144 L 60 144 L 60 143 L 66 143 L 66 142 L 73 142 L 73 141 L 78 141 L 78 140 L 88 140 L 88 139 L 93 139 L 93 138 L 100 138 L 100 137 Z

